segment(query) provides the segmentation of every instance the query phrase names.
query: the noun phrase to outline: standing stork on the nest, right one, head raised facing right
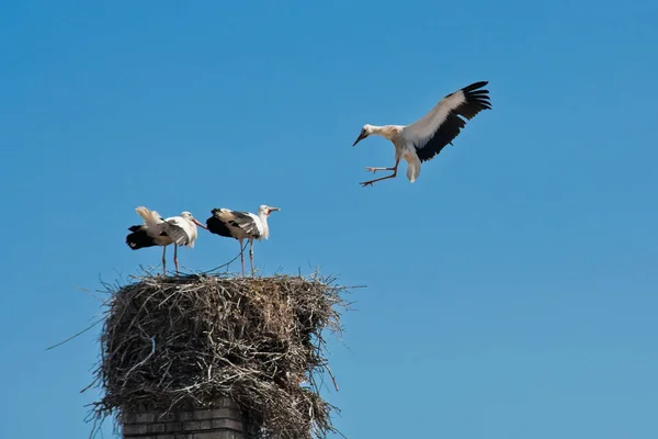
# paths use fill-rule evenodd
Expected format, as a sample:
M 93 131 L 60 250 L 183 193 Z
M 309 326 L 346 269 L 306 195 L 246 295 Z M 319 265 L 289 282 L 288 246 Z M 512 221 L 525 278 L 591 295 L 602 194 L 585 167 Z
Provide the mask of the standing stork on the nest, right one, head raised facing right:
M 213 209 L 213 216 L 206 219 L 208 232 L 227 238 L 235 238 L 240 243 L 242 275 L 245 275 L 242 241 L 249 239 L 249 260 L 251 262 L 251 275 L 253 275 L 253 239 L 261 240 L 270 237 L 268 216 L 274 211 L 281 211 L 281 209 L 262 204 L 258 209 L 258 215 L 229 209 Z

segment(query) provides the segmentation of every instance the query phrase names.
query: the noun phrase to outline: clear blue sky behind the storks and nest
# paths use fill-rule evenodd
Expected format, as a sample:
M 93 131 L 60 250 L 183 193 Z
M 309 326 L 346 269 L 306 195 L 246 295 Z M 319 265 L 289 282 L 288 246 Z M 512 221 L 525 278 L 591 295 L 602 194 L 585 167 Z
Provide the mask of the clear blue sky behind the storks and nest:
M 368 285 L 331 357 L 348 437 L 658 437 L 654 1 L 185 3 L 2 3 L 0 437 L 88 435 L 98 328 L 45 348 L 98 314 L 78 288 L 158 263 L 136 206 L 262 203 L 265 273 Z M 416 183 L 358 184 L 393 164 L 363 124 L 478 80 L 494 110 Z

